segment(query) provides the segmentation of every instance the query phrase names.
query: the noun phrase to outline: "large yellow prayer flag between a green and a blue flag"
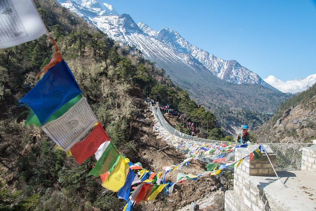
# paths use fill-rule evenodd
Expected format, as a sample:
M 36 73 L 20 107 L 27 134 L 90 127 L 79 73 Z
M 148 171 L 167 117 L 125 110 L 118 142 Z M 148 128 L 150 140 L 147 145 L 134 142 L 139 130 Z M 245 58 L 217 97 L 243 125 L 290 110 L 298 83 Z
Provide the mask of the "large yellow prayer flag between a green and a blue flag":
M 118 192 L 121 189 L 126 181 L 127 172 L 129 165 L 124 161 L 122 157 L 119 157 L 119 162 L 109 174 L 106 181 L 102 183 L 102 186 L 106 189 Z

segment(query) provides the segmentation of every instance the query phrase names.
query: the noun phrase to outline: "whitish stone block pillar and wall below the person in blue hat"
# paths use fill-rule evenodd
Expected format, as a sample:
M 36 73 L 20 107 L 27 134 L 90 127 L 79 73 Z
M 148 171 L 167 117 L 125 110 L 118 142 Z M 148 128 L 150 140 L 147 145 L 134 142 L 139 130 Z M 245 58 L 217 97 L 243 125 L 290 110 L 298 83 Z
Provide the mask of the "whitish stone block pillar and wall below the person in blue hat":
M 235 160 L 244 158 L 257 147 L 258 145 L 251 145 L 248 148 L 237 148 Z M 268 146 L 266 150 L 275 167 L 276 155 Z M 258 160 L 254 157 L 250 162 L 249 158 L 246 158 L 239 167 L 234 167 L 234 190 L 225 192 L 225 210 L 270 210 L 263 187 L 260 187 L 260 184 L 266 181 L 260 181 L 260 176 L 275 176 L 275 173 L 266 154 L 260 157 Z

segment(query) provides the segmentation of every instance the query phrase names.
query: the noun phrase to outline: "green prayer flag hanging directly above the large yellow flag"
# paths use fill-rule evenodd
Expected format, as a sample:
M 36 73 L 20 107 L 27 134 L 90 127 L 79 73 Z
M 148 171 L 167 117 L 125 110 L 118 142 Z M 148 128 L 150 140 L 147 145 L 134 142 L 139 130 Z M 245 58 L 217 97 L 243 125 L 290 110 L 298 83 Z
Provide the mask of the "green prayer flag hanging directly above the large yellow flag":
M 89 175 L 97 177 L 107 171 L 109 171 L 110 174 L 114 166 L 119 162 L 119 158 L 119 152 L 110 141 L 110 143 L 106 147 L 106 150 L 103 152 L 100 159 L 96 162 L 94 168 L 89 172 Z

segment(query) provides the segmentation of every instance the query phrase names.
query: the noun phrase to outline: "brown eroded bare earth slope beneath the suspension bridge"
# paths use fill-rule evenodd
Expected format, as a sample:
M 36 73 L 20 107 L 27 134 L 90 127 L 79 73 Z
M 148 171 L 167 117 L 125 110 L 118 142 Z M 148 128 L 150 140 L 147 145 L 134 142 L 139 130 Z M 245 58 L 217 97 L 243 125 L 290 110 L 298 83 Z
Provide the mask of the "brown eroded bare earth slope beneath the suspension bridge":
M 143 109 L 146 110 L 146 107 Z M 132 137 L 137 143 L 137 152 L 130 159 L 132 162 L 141 162 L 143 167 L 150 171 L 164 172 L 163 166 L 178 164 L 186 157 L 184 153 L 173 147 L 157 151 L 167 144 L 161 139 L 156 139 L 152 120 L 151 111 L 141 112 L 137 115 Z M 179 172 L 197 175 L 203 171 L 206 171 L 205 163 L 193 161 L 187 168 L 168 173 L 167 181 L 175 182 Z M 172 196 L 165 196 L 165 200 L 162 191 L 154 202 L 142 202 L 136 205 L 134 210 L 162 210 L 162 207 L 164 210 L 190 210 L 191 202 L 196 202 L 200 210 L 224 210 L 224 191 L 231 187 L 231 174 L 202 177 L 197 181 L 190 180 L 175 185 Z

